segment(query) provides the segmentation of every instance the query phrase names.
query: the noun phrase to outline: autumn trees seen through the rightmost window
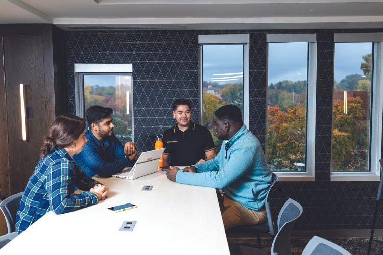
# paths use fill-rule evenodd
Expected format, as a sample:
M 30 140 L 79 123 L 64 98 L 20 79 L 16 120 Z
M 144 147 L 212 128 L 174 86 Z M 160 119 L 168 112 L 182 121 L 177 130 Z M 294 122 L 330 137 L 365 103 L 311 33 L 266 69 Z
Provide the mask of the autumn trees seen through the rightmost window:
M 363 75 L 351 74 L 340 83 L 334 82 L 333 171 L 368 171 L 372 54 L 363 55 L 362 59 Z M 337 97 L 342 92 L 346 93 L 347 102 Z

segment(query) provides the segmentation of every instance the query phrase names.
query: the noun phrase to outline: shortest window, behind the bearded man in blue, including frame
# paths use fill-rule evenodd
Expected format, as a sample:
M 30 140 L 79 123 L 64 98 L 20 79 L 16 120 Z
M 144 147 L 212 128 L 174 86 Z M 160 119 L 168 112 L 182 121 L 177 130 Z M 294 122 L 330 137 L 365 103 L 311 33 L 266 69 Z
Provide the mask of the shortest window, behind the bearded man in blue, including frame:
M 114 135 L 123 144 L 133 141 L 131 69 L 122 68 L 124 72 L 116 73 L 107 72 L 105 67 L 109 64 L 91 64 L 93 69 L 87 65 L 76 64 L 75 68 L 76 114 L 84 117 L 86 109 L 93 105 L 110 107 L 113 109 Z M 116 71 L 118 66 L 112 70 Z

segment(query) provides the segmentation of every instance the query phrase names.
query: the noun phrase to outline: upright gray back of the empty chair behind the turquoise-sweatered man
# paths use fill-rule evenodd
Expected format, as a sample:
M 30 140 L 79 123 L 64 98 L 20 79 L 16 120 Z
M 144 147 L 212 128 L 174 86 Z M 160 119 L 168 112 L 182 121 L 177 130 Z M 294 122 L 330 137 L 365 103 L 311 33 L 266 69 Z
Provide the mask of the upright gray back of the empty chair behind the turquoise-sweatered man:
M 291 231 L 302 212 L 303 208 L 297 201 L 289 198 L 284 203 L 278 215 L 278 233 L 271 245 L 271 254 L 291 254 Z

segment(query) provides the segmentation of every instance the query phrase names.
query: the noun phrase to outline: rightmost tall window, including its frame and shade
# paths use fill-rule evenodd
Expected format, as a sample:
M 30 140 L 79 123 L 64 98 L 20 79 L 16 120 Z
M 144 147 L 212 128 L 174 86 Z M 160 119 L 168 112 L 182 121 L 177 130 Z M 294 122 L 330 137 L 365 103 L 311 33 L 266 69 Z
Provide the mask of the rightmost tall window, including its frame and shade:
M 375 42 L 376 35 L 336 34 L 335 37 L 331 180 L 342 172 L 367 176 L 379 172 L 381 110 L 374 109 L 381 105 L 377 61 L 381 43 Z

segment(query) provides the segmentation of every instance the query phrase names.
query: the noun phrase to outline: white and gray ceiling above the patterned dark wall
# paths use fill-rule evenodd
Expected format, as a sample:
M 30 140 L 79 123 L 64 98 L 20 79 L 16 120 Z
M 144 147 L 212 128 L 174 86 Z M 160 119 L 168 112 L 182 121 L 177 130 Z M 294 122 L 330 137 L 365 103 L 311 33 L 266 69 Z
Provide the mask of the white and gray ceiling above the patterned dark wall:
M 0 23 L 63 29 L 383 28 L 383 0 L 0 0 Z

